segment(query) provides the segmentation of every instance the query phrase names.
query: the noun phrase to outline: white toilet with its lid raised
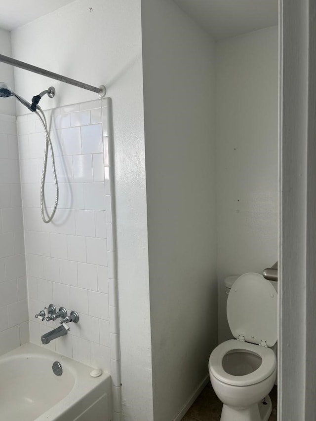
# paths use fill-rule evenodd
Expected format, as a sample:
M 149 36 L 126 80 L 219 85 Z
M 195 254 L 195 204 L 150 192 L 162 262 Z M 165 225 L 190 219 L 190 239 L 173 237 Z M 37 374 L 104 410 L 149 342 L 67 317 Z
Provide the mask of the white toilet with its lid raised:
M 236 339 L 219 344 L 209 357 L 213 389 L 223 402 L 220 421 L 267 421 L 276 380 L 277 293 L 258 273 L 234 282 L 227 319 Z

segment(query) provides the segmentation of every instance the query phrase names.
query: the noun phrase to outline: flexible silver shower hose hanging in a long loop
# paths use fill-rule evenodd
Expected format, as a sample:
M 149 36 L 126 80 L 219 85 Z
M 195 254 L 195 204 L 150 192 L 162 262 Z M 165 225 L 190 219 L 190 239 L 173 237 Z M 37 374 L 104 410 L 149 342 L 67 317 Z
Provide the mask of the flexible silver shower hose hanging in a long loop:
M 47 128 L 47 121 L 45 114 L 43 110 L 40 108 L 40 106 L 37 106 L 37 110 L 35 113 L 40 118 L 40 121 L 44 127 L 45 131 L 45 150 L 44 150 L 44 159 L 43 159 L 43 169 L 41 173 L 41 180 L 40 180 L 40 213 L 41 218 L 45 224 L 48 224 L 51 222 L 51 220 L 54 218 L 55 212 L 57 210 L 58 200 L 59 200 L 59 188 L 58 188 L 58 181 L 57 181 L 57 175 L 56 175 L 56 167 L 55 167 L 55 156 L 54 156 L 54 150 L 53 145 L 48 133 Z M 48 147 L 50 149 L 51 153 L 51 164 L 53 168 L 53 175 L 54 175 L 54 182 L 55 182 L 55 204 L 52 213 L 49 215 L 48 211 L 45 206 L 45 195 L 44 195 L 44 188 L 45 188 L 45 178 L 46 178 L 46 169 L 47 169 L 47 156 L 48 156 Z M 47 217 L 45 216 L 45 212 L 47 214 Z

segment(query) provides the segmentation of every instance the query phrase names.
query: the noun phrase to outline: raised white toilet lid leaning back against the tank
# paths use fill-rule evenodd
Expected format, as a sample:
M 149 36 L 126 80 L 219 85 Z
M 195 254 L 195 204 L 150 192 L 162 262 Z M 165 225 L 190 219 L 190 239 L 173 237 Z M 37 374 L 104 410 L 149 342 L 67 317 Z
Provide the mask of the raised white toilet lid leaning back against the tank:
M 227 319 L 236 339 L 269 347 L 277 340 L 277 293 L 258 273 L 245 273 L 234 282 L 227 298 Z

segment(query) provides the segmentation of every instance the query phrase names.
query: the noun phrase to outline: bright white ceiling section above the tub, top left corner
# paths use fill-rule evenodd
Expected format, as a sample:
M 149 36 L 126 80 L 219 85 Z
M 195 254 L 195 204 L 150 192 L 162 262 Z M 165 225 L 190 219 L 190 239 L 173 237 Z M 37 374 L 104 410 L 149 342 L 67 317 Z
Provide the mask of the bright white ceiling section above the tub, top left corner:
M 9 0 L 1 7 L 0 28 L 11 31 L 74 0 Z M 4 1 L 3 1 L 4 2 Z

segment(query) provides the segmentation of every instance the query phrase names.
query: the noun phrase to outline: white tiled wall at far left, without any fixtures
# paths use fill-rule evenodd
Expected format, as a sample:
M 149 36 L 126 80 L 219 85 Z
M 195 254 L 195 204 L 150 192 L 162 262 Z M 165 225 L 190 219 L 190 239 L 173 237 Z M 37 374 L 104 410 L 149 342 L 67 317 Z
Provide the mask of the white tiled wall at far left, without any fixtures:
M 29 341 L 16 117 L 0 114 L 0 354 Z

